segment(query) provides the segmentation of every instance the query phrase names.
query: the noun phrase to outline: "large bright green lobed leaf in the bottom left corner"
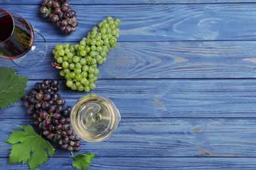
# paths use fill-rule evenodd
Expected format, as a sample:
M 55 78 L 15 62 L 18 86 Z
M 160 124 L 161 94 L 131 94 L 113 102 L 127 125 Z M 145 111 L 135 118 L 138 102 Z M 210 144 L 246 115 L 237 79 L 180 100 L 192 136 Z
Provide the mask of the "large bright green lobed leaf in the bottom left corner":
M 24 130 L 14 129 L 9 138 L 5 140 L 5 142 L 12 144 L 9 148 L 11 152 L 7 163 L 22 162 L 24 164 L 28 161 L 30 169 L 35 169 L 43 162 L 47 163 L 48 155 L 53 156 L 54 154 L 51 143 L 37 134 L 29 124 L 18 127 Z

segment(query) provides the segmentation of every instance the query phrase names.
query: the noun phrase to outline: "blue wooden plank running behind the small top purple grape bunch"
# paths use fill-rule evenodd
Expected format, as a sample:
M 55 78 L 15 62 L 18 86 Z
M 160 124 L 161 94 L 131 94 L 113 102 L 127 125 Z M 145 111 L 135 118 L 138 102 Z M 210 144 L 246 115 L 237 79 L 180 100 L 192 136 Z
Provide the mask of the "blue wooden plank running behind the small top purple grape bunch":
M 28 11 L 26 5 L 2 5 L 24 14 L 47 41 L 79 41 L 108 15 L 121 18 L 120 41 L 255 40 L 255 3 L 73 6 L 79 26 L 73 35 L 65 36 L 42 18 L 38 6 L 30 6 Z

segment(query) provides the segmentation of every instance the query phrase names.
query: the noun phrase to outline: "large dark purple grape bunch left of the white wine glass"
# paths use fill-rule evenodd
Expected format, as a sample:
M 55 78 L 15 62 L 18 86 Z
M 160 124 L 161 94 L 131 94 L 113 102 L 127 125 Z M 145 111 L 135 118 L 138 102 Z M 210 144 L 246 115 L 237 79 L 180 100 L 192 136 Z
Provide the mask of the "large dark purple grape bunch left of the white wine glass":
M 35 120 L 33 124 L 43 129 L 43 135 L 65 150 L 80 150 L 80 139 L 70 124 L 71 107 L 58 93 L 58 80 L 36 82 L 30 93 L 24 95 L 24 105 Z

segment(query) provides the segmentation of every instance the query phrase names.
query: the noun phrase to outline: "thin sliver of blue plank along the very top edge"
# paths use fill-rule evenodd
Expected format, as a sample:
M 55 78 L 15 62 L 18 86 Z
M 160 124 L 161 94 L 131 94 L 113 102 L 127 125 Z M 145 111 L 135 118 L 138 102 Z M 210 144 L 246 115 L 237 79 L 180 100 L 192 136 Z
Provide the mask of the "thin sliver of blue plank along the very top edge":
M 35 0 L 35 1 L 9 1 L 9 0 L 0 0 L 1 5 L 9 5 L 9 4 L 26 4 L 26 5 L 39 5 L 41 4 L 42 0 Z M 82 4 L 82 5 L 113 5 L 113 4 L 182 4 L 182 3 L 252 3 L 252 1 L 249 0 L 222 0 L 222 1 L 216 1 L 216 0 L 181 0 L 181 1 L 175 1 L 175 0 L 140 0 L 139 3 L 136 0 L 129 0 L 129 1 L 119 1 L 119 0 L 109 0 L 109 1 L 83 1 L 83 0 L 77 0 L 77 1 L 68 1 L 71 5 L 75 4 Z

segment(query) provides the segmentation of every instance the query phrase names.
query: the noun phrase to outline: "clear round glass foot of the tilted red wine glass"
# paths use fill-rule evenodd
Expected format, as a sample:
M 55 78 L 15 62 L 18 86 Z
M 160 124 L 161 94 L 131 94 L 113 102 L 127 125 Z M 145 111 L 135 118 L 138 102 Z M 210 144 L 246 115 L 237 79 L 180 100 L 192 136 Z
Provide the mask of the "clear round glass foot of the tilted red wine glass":
M 47 53 L 47 43 L 40 33 L 34 31 L 34 41 L 30 51 L 24 56 L 12 61 L 19 67 L 31 68 L 39 65 Z

